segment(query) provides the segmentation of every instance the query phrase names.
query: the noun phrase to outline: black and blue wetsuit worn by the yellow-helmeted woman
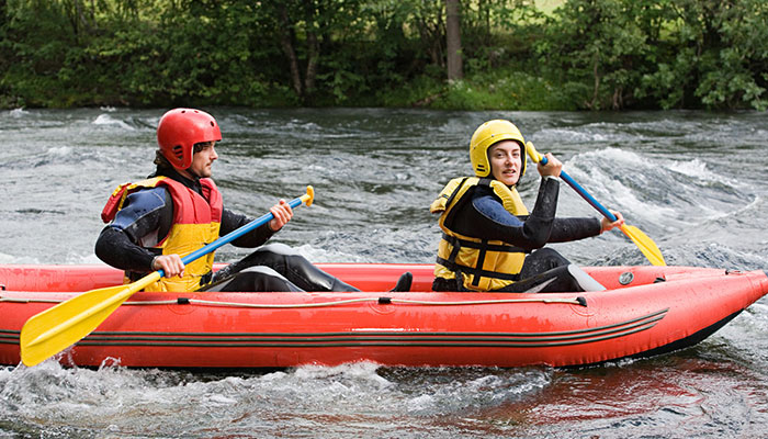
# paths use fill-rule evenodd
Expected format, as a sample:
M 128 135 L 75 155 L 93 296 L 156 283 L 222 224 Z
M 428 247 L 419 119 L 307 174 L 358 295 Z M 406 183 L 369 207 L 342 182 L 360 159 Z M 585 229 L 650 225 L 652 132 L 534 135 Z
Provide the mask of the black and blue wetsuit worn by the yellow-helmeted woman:
M 460 210 L 452 224 L 454 232 L 481 239 L 501 240 L 531 252 L 523 262 L 520 281 L 501 291 L 581 291 L 578 282 L 568 273 L 567 266 L 571 262 L 557 251 L 542 247 L 547 243 L 566 243 L 597 236 L 600 234 L 600 221 L 590 217 L 555 217 L 558 192 L 560 182 L 555 178 L 543 178 L 533 211 L 527 216 L 515 216 L 507 212 L 489 187 L 475 187 L 471 202 L 458 206 Z M 432 289 L 466 290 L 463 285 L 442 278 L 436 279 Z

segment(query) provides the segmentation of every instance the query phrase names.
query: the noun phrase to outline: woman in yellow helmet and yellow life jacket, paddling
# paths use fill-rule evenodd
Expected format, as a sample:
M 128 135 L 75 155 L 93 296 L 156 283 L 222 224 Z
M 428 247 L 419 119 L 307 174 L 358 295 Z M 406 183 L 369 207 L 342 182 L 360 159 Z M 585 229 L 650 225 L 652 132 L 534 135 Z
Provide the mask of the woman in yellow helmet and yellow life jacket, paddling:
M 517 192 L 526 173 L 526 140 L 515 124 L 493 120 L 470 142 L 474 177 L 451 180 L 432 202 L 442 238 L 434 291 L 555 292 L 602 290 L 547 243 L 597 236 L 623 224 L 594 217 L 555 217 L 563 164 L 547 154 L 538 166 L 539 194 L 529 213 Z

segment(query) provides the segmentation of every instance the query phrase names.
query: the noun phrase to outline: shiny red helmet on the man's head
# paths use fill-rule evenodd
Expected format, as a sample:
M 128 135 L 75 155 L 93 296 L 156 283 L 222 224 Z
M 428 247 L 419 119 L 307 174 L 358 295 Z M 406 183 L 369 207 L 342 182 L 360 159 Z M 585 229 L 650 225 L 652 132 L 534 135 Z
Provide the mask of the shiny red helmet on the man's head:
M 157 144 L 176 169 L 192 165 L 194 144 L 221 139 L 222 130 L 216 120 L 202 110 L 173 109 L 163 114 L 157 125 Z

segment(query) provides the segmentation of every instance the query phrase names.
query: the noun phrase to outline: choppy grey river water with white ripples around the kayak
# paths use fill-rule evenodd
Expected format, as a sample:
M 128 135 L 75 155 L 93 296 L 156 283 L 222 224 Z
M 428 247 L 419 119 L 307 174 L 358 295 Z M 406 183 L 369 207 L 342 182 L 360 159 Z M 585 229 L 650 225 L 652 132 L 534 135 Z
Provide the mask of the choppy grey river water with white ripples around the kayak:
M 668 264 L 768 268 L 766 113 L 208 110 L 227 207 L 259 216 L 314 185 L 273 239 L 315 262 L 432 262 L 430 202 L 471 172 L 475 127 L 506 117 Z M 0 112 L 0 263 L 100 263 L 101 209 L 151 172 L 162 112 Z M 565 184 L 558 214 L 597 216 Z M 579 264 L 647 263 L 618 232 L 553 247 Z M 767 395 L 764 297 L 693 348 L 573 370 L 0 365 L 0 438 L 755 438 Z

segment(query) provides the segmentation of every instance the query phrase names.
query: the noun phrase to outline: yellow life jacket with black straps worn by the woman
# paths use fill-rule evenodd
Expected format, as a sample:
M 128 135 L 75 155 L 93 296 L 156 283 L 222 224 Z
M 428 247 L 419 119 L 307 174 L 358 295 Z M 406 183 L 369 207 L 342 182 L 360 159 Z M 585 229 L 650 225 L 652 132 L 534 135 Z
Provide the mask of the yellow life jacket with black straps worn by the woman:
M 501 240 L 488 240 L 462 235 L 453 229 L 456 212 L 471 202 L 476 187 L 489 187 L 512 215 L 528 215 L 528 210 L 515 188 L 490 178 L 464 177 L 451 180 L 429 207 L 440 214 L 442 238 L 438 246 L 434 277 L 456 282 L 472 291 L 493 291 L 519 279 L 526 250 Z

